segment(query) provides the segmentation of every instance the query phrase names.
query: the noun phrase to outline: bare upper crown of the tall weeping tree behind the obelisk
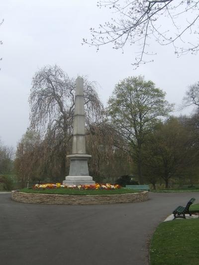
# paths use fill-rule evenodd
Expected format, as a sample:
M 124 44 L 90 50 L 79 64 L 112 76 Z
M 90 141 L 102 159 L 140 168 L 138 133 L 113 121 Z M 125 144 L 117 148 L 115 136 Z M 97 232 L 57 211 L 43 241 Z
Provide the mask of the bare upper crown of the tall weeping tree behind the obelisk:
M 86 122 L 100 117 L 102 104 L 95 91 L 95 83 L 85 79 Z M 30 126 L 44 132 L 48 128 L 61 130 L 65 137 L 72 132 L 75 107 L 75 80 L 70 79 L 58 66 L 46 66 L 33 80 L 29 97 Z

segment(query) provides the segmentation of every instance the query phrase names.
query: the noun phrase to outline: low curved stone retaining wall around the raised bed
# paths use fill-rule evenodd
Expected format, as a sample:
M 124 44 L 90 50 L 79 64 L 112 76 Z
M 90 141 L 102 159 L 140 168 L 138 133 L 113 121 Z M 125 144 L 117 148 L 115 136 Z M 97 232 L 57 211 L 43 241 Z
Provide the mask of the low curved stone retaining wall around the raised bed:
M 26 192 L 19 192 L 13 190 L 12 199 L 15 201 L 26 202 L 26 203 L 68 204 L 68 205 L 126 203 L 126 202 L 141 202 L 148 200 L 148 191 L 125 193 L 125 194 L 107 194 L 107 195 L 60 195 L 60 194 L 26 193 Z

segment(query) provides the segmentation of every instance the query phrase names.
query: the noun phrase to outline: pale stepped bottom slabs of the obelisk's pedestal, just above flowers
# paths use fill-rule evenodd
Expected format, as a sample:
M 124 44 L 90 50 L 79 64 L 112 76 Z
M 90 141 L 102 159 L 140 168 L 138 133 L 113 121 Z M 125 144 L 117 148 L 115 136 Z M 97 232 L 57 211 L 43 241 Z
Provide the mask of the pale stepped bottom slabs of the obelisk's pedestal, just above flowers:
M 67 176 L 63 185 L 95 185 L 96 181 L 91 176 Z

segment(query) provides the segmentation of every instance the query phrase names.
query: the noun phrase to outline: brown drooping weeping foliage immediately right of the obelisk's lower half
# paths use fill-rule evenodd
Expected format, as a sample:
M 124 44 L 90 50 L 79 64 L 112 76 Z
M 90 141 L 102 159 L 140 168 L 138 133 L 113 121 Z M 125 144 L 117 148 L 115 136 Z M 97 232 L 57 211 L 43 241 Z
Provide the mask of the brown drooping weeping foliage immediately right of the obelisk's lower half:
M 114 182 L 117 177 L 130 174 L 130 157 L 124 140 L 107 120 L 92 124 L 86 140 L 88 152 L 92 154 L 90 174 L 97 182 Z

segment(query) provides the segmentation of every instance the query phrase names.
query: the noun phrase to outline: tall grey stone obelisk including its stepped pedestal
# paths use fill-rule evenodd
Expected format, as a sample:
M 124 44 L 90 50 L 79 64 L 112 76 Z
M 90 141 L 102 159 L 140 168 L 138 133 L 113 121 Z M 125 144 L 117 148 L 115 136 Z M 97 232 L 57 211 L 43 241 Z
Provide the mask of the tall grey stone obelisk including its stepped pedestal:
M 89 176 L 88 158 L 85 142 L 85 114 L 84 114 L 84 80 L 76 79 L 75 113 L 73 127 L 73 151 L 67 156 L 70 160 L 69 176 L 63 181 L 64 185 L 95 184 Z

